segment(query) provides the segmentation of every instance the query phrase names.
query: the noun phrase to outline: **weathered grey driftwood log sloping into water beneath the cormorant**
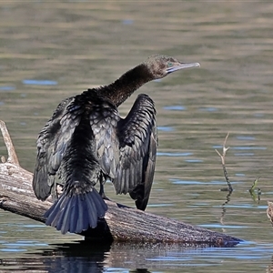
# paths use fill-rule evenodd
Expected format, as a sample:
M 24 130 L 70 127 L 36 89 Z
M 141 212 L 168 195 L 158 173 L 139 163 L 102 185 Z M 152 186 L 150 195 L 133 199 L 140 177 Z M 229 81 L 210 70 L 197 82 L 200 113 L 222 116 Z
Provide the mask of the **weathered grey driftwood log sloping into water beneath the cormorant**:
M 0 208 L 45 223 L 43 215 L 52 200 L 36 199 L 32 190 L 32 173 L 20 167 L 12 140 L 0 121 L 8 158 L 0 163 Z M 96 228 L 83 232 L 86 238 L 99 240 L 168 242 L 186 246 L 232 247 L 241 240 L 167 217 L 156 216 L 134 208 L 106 201 L 106 217 Z M 60 234 L 61 236 L 61 234 Z

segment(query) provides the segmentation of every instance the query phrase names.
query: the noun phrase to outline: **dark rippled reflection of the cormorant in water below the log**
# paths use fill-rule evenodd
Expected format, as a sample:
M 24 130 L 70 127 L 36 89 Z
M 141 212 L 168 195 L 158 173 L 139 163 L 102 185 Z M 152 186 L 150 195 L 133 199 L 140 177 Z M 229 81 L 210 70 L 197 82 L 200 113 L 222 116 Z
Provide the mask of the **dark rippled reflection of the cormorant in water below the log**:
M 24 258 L 1 260 L 1 266 L 14 267 L 22 270 L 43 270 L 45 272 L 103 272 L 106 253 L 110 244 L 74 243 L 51 245 L 50 248 L 40 249 Z

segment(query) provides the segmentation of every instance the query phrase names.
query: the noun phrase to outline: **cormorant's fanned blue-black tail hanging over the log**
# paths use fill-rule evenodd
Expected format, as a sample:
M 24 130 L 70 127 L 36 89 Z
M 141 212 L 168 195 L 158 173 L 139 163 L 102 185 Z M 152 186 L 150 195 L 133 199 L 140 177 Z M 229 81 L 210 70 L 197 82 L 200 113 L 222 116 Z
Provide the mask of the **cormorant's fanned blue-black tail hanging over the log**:
M 56 200 L 45 212 L 47 226 L 56 227 L 63 234 L 81 233 L 89 227 L 96 227 L 97 218 L 104 217 L 107 205 L 95 188 L 84 194 L 66 195 Z

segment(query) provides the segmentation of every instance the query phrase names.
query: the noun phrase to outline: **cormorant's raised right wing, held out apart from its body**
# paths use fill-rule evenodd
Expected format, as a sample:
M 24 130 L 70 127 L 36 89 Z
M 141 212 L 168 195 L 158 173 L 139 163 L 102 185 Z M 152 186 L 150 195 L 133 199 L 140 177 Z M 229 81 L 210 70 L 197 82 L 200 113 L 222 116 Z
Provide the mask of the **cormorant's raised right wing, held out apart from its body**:
M 136 207 L 145 210 L 157 157 L 156 109 L 152 99 L 139 95 L 117 127 L 120 159 L 113 179 L 116 193 L 129 193 L 136 200 Z

